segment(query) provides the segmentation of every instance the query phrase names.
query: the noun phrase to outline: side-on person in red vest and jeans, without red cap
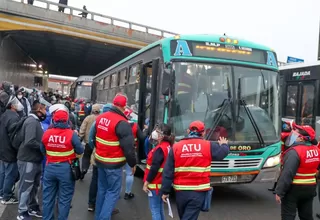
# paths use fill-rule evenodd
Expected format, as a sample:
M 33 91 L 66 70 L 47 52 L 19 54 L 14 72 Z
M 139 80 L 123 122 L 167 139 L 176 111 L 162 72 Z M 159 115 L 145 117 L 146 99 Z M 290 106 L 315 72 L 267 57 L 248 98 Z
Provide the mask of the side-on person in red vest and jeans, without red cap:
M 171 148 L 171 127 L 167 124 L 161 124 L 153 132 L 156 133 L 154 136 L 157 137 L 158 144 L 148 154 L 147 168 L 143 178 L 143 191 L 150 194 L 148 197 L 152 219 L 164 220 L 164 207 L 160 189 L 162 171 Z

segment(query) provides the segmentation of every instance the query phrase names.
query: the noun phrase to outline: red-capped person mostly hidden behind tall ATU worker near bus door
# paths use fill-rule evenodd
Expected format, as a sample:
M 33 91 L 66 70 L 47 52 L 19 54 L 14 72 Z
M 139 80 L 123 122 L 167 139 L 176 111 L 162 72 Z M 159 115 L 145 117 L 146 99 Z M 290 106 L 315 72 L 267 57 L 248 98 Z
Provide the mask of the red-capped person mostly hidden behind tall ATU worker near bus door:
M 134 137 L 134 146 L 135 149 L 137 150 L 138 144 L 144 143 L 144 140 L 146 139 L 146 136 L 143 134 L 141 129 L 138 126 L 138 123 L 131 121 L 132 117 L 131 114 L 133 113 L 133 110 L 127 108 L 124 112 L 125 116 L 128 118 L 129 123 L 132 128 L 132 134 Z M 125 188 L 125 193 L 124 193 L 124 199 L 129 200 L 134 198 L 134 194 L 131 192 L 132 186 L 133 186 L 133 181 L 134 181 L 134 176 L 132 175 L 131 172 L 131 167 L 129 166 L 128 163 L 125 165 L 125 172 L 126 172 L 126 188 Z

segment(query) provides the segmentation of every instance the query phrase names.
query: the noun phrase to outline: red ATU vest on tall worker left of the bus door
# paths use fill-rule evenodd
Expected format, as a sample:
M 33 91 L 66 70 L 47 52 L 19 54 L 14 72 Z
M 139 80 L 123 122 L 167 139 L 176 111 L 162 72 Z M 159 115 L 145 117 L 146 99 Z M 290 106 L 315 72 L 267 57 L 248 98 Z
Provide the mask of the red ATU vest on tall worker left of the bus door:
M 97 161 L 105 164 L 125 163 L 126 158 L 116 135 L 116 126 L 126 118 L 114 112 L 105 112 L 96 119 L 96 153 Z

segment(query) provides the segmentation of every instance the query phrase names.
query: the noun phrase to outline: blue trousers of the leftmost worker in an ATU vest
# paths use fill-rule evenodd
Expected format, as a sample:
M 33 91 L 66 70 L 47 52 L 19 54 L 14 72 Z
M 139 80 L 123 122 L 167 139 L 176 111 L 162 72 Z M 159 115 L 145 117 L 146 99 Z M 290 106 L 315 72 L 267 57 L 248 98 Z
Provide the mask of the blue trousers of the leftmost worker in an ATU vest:
M 54 220 L 58 196 L 58 220 L 67 220 L 75 181 L 69 163 L 49 163 L 43 175 L 43 219 Z

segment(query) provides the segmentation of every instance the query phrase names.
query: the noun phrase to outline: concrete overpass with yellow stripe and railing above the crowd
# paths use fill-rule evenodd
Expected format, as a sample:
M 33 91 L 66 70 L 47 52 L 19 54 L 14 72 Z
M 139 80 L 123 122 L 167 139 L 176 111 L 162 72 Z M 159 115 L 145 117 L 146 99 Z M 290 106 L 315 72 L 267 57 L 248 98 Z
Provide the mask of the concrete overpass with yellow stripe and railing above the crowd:
M 11 52 L 3 45 L 14 42 L 29 62 L 41 64 L 49 74 L 95 75 L 140 48 L 175 35 L 46 0 L 35 0 L 34 5 L 26 1 L 0 0 L 0 58 L 2 54 L 2 59 L 9 59 Z M 65 13 L 58 12 L 59 6 L 66 8 Z M 81 12 L 88 17 L 80 17 Z

